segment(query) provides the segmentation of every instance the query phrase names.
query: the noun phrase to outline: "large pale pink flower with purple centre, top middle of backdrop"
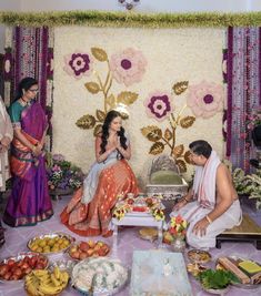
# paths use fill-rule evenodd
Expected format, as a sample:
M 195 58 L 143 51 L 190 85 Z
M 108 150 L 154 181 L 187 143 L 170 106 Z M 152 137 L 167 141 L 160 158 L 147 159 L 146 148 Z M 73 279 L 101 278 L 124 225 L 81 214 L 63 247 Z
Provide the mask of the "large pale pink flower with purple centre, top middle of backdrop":
M 110 59 L 110 70 L 119 83 L 130 86 L 140 82 L 145 72 L 147 61 L 142 52 L 128 48 Z

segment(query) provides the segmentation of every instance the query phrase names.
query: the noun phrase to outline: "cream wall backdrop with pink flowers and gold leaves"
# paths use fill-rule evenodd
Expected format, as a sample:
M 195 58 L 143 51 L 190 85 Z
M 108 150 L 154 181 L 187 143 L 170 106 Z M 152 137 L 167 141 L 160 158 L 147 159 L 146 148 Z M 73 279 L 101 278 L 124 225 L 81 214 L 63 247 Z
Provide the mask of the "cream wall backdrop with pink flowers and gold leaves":
M 94 160 L 93 130 L 79 129 L 77 121 L 89 114 L 98 124 L 106 108 L 117 103 L 113 100 L 124 99 L 129 119 L 123 125 L 132 145 L 130 163 L 141 185 L 154 157 L 149 153 L 154 142 L 148 141 L 142 129 L 171 131 L 171 114 L 177 116 L 180 111 L 183 118 L 193 120 L 190 129 L 175 130 L 175 145 L 183 145 L 185 152 L 191 141 L 204 139 L 222 157 L 223 29 L 54 30 L 53 153 L 62 153 L 87 172 Z M 96 54 L 93 49 L 98 50 Z M 99 49 L 106 52 L 108 61 Z M 111 84 L 108 69 L 113 72 L 109 76 Z M 124 74 L 128 69 L 133 69 L 130 75 Z M 182 85 L 185 90 L 179 91 Z M 84 123 L 89 124 L 89 120 L 86 118 Z M 163 135 L 169 137 L 170 133 Z M 171 152 L 165 149 L 163 153 Z M 187 176 L 191 173 L 192 166 L 188 165 Z

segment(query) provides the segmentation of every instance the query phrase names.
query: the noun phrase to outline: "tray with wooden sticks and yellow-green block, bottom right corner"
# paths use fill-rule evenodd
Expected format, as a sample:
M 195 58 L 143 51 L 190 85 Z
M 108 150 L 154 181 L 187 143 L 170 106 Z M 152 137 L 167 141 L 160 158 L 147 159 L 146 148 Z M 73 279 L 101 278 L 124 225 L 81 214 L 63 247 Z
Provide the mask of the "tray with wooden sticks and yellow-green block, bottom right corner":
M 261 286 L 261 264 L 237 256 L 219 257 L 217 269 L 231 272 L 239 279 L 234 283 L 241 288 L 254 289 Z

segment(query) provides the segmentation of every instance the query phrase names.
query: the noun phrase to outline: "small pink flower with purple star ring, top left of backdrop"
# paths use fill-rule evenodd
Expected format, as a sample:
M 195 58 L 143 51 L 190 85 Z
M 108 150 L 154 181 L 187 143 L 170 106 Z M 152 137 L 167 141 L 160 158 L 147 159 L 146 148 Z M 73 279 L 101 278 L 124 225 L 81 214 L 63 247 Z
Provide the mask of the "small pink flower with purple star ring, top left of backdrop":
M 90 75 L 92 70 L 92 60 L 88 53 L 79 51 L 64 57 L 63 70 L 76 79 L 81 79 L 83 75 Z

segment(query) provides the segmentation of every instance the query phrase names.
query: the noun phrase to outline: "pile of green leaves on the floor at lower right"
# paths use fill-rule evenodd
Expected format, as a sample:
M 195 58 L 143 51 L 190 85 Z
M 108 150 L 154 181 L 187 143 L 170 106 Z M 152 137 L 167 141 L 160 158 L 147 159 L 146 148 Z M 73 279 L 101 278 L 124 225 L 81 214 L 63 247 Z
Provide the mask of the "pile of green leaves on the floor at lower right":
M 207 269 L 199 274 L 202 286 L 207 289 L 223 289 L 231 283 L 238 283 L 235 275 L 228 271 Z

